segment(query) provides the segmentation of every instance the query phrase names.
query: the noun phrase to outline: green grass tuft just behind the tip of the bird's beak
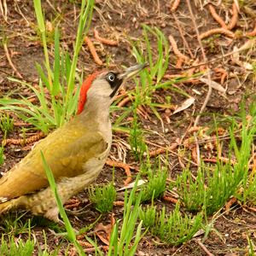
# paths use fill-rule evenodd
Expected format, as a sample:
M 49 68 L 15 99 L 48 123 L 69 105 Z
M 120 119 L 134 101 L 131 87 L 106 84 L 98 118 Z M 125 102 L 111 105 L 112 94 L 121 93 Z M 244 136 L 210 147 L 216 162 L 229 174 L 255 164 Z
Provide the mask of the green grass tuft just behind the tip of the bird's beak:
M 153 41 L 156 40 L 157 47 L 153 47 Z M 136 87 L 135 90 L 131 90 L 128 96 L 134 97 L 132 102 L 132 108 L 117 108 L 113 106 L 111 112 L 122 111 L 119 118 L 115 120 L 113 125 L 114 129 L 120 129 L 124 119 L 129 116 L 132 112 L 137 111 L 137 107 L 146 106 L 150 108 L 154 116 L 160 120 L 163 125 L 163 121 L 157 108 L 170 108 L 172 106 L 171 99 L 167 98 L 165 103 L 155 102 L 154 93 L 156 90 L 160 89 L 171 89 L 183 94 L 184 96 L 189 96 L 183 90 L 178 90 L 174 88 L 172 84 L 176 81 L 163 81 L 164 75 L 166 73 L 167 67 L 169 65 L 169 49 L 170 46 L 166 39 L 166 36 L 158 28 L 151 28 L 149 26 L 143 25 L 143 37 L 139 38 L 137 41 L 132 41 L 132 55 L 136 58 L 138 63 L 148 62 L 149 68 L 143 69 L 139 74 L 139 79 L 134 79 Z M 154 50 L 155 49 L 155 50 Z M 119 101 L 121 98 L 119 99 Z M 118 103 L 119 101 L 115 102 Z M 133 129 L 134 124 L 131 125 Z M 123 127 L 121 127 L 124 129 Z M 126 129 L 127 131 L 127 129 Z M 130 131 L 130 129 L 128 129 Z

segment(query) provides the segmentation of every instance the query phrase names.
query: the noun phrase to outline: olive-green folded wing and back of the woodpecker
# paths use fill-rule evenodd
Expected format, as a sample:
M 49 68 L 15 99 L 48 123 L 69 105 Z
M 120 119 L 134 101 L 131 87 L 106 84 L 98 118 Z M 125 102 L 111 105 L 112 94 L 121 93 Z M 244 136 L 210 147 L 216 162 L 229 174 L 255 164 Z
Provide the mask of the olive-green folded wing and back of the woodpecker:
M 74 177 L 84 172 L 84 164 L 102 154 L 107 148 L 99 132 L 66 134 L 58 129 L 42 140 L 26 157 L 0 179 L 0 202 L 30 194 L 48 186 L 41 151 L 57 181 L 61 177 Z M 83 136 L 81 135 L 83 134 Z M 86 170 L 85 170 L 86 172 Z

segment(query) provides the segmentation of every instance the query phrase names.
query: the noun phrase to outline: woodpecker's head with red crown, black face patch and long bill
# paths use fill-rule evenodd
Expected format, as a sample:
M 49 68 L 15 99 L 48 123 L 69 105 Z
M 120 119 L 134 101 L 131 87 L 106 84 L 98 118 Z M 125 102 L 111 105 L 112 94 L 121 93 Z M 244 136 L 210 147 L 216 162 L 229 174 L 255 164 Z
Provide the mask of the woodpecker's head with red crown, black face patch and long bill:
M 84 105 L 90 102 L 113 102 L 113 96 L 116 95 L 119 87 L 128 79 L 140 72 L 147 64 L 139 64 L 128 67 L 125 72 L 101 71 L 92 73 L 81 86 L 79 96 L 78 114 L 84 110 Z M 105 104 L 104 104 L 105 105 Z

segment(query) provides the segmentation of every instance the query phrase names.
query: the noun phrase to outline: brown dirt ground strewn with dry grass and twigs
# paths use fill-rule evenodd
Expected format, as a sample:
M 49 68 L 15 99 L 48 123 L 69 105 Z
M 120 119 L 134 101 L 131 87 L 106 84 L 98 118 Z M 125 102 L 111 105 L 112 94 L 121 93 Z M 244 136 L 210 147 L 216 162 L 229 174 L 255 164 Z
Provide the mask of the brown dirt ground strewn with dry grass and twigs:
M 4 1 L 3 1 L 4 2 Z M 176 11 L 171 11 L 171 6 L 174 1 L 165 0 L 96 0 L 96 8 L 91 23 L 89 37 L 96 46 L 96 50 L 102 61 L 103 67 L 120 67 L 121 65 L 130 66 L 136 62 L 134 56 L 131 55 L 131 41 L 139 41 L 143 38 L 142 24 L 158 27 L 168 38 L 172 35 L 177 42 L 177 48 L 192 61 L 183 63 L 181 68 L 176 68 L 177 55 L 170 50 L 170 63 L 166 71 L 166 80 L 174 75 L 184 73 L 185 67 L 196 65 L 200 62 L 205 62 L 201 55 L 195 26 L 191 21 L 189 8 L 186 1 L 182 0 L 179 3 Z M 207 2 L 204 0 L 190 1 L 192 10 L 195 15 L 195 22 L 200 32 L 207 32 L 212 28 L 219 28 L 220 25 L 212 18 Z M 211 1 L 210 1 L 211 2 Z M 244 45 L 248 38 L 247 32 L 252 32 L 256 16 L 256 3 L 254 1 L 235 1 L 240 3 L 240 12 L 236 26 L 230 31 L 235 33 L 235 38 L 227 37 L 226 35 L 212 36 L 203 40 L 203 48 L 207 55 L 208 67 L 212 71 L 214 81 L 221 84 L 225 90 L 225 94 L 219 90 L 212 90 L 207 106 L 201 115 L 198 125 L 203 127 L 211 127 L 214 125 L 213 115 L 218 119 L 225 120 L 224 117 L 236 115 L 240 109 L 242 99 L 246 99 L 249 103 L 253 100 L 255 91 L 255 66 L 254 73 L 250 68 L 245 67 L 245 63 L 255 63 L 256 52 L 255 46 L 253 50 L 247 50 L 240 55 L 240 62 L 234 60 L 234 55 L 228 55 L 232 50 L 239 49 Z M 226 24 L 230 22 L 232 17 L 232 1 L 212 1 L 212 6 L 215 7 L 217 13 L 224 19 Z M 61 46 L 65 49 L 72 49 L 75 40 L 76 26 L 78 24 L 79 1 L 43 1 L 45 20 L 49 21 L 50 26 L 59 24 L 61 29 Z M 174 14 L 174 15 L 173 15 Z M 6 49 L 3 45 L 0 47 L 0 97 L 12 94 L 20 96 L 20 84 L 9 81 L 8 77 L 19 79 L 19 73 L 23 80 L 30 83 L 38 82 L 38 73 L 35 67 L 36 62 L 44 63 L 44 51 L 40 38 L 37 33 L 36 18 L 34 15 L 32 1 L 7 1 L 6 20 L 3 14 L 0 13 L 0 39 L 2 42 L 7 42 L 10 59 L 16 68 L 11 67 L 7 58 Z M 183 36 L 189 45 L 189 48 L 184 45 L 184 40 L 181 37 L 178 26 L 181 27 Z M 93 34 L 93 29 L 96 28 L 102 38 L 111 38 L 118 40 L 118 46 L 109 46 L 96 41 Z M 255 30 L 255 29 L 254 29 Z M 50 37 L 50 36 L 49 36 Z M 152 41 L 152 51 L 156 53 L 157 45 Z M 53 42 L 49 42 L 50 55 L 53 53 Z M 191 55 L 189 55 L 189 51 Z M 225 55 L 223 58 L 219 58 Z M 154 55 L 155 57 L 155 55 Z M 198 59 L 196 62 L 195 60 Z M 217 60 L 218 59 L 218 60 Z M 254 64 L 255 65 L 255 64 Z M 85 75 L 97 68 L 102 68 L 96 65 L 90 55 L 90 51 L 84 44 L 79 55 L 79 72 L 84 71 Z M 218 68 L 218 69 L 216 69 Z M 195 72 L 198 72 L 200 67 L 197 67 Z M 17 73 L 18 71 L 18 73 Z M 223 79 L 223 81 L 221 80 Z M 129 90 L 134 86 L 132 81 L 126 85 L 125 90 Z M 183 111 L 172 114 L 173 110 L 166 111 L 158 109 L 160 116 L 164 120 L 165 132 L 161 129 L 160 121 L 147 108 L 144 110 L 148 113 L 141 117 L 143 128 L 148 130 L 146 140 L 150 150 L 159 147 L 166 147 L 177 139 L 186 136 L 189 127 L 194 125 L 195 118 L 200 112 L 201 105 L 206 99 L 208 86 L 202 82 L 184 82 L 176 84 L 177 88 L 184 90 L 189 96 L 195 98 L 195 102 L 189 108 Z M 21 92 L 26 96 L 26 92 Z M 174 90 L 156 90 L 155 100 L 160 102 L 161 99 L 170 96 L 173 106 L 180 106 L 186 99 Z M 129 103 L 128 103 L 129 104 Z M 119 112 L 112 114 L 113 123 L 118 118 Z M 9 134 L 9 138 L 18 138 L 22 135 L 19 120 L 15 119 L 15 131 Z M 221 124 L 226 128 L 225 121 Z M 31 133 L 26 134 L 27 137 L 32 136 Z M 0 140 L 3 139 L 3 134 L 0 134 Z M 131 166 L 137 166 L 133 159 L 131 151 L 127 151 L 126 159 L 120 159 L 119 142 L 129 141 L 125 134 L 113 133 L 113 147 L 110 154 L 110 159 L 123 160 Z M 22 159 L 31 149 L 32 145 L 20 146 L 10 144 L 5 148 L 5 162 L 0 166 L 0 172 L 7 172 L 11 166 Z M 201 146 L 202 154 L 204 145 Z M 227 153 L 224 152 L 224 155 Z M 124 154 L 122 154 L 124 157 Z M 121 158 L 122 158 L 121 157 Z M 152 159 L 154 161 L 154 159 Z M 183 164 L 186 164 L 185 162 Z M 177 173 L 180 173 L 183 166 L 177 157 L 177 148 L 169 154 L 169 177 L 175 178 Z M 132 172 L 136 175 L 137 172 Z M 112 179 L 112 168 L 105 166 L 96 183 L 106 183 Z M 115 185 L 120 188 L 124 185 L 125 172 L 117 168 L 115 171 Z M 118 195 L 122 198 L 122 195 Z M 72 224 L 76 228 L 81 228 L 84 224 L 93 223 L 98 218 L 99 213 L 90 205 L 86 199 L 86 191 L 77 195 L 74 199 L 81 201 L 79 208 L 85 207 L 83 214 L 79 216 L 70 216 Z M 156 201 L 155 204 L 173 209 L 170 202 L 164 200 Z M 114 207 L 113 209 L 116 219 L 122 218 L 122 207 Z M 25 218 L 27 218 L 26 215 Z M 61 238 L 54 236 L 49 228 L 44 228 L 43 224 L 38 223 L 38 218 L 34 218 L 35 227 L 32 229 L 39 244 L 44 246 L 43 231 L 46 232 L 49 248 L 54 248 L 55 245 L 61 243 Z M 110 214 L 103 216 L 101 221 L 108 224 Z M 1 225 L 1 224 L 0 224 Z M 186 242 L 180 247 L 172 247 L 158 241 L 156 237 L 147 235 L 143 237 L 143 241 L 138 247 L 137 255 L 207 255 L 204 248 L 207 248 L 208 253 L 214 255 L 245 255 L 247 254 L 248 241 L 247 236 L 256 244 L 256 218 L 255 212 L 246 210 L 243 207 L 235 206 L 228 214 L 222 214 L 214 223 L 215 232 L 212 231 L 203 242 L 203 245 L 198 243 L 198 238 Z M 26 236 L 26 235 L 25 235 Z M 92 236 L 93 237 L 93 236 Z M 98 241 L 101 244 L 101 241 Z M 67 243 L 64 241 L 61 252 L 67 248 Z M 63 254 L 64 255 L 64 254 Z M 208 254 L 211 255 L 211 254 Z

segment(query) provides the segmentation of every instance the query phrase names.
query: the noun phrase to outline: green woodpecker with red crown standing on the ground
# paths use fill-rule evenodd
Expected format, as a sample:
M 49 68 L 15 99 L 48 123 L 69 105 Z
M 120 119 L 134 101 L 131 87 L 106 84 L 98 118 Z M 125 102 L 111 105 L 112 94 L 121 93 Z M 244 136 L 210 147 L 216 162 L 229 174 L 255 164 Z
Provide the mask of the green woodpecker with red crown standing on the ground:
M 59 223 L 59 210 L 44 170 L 44 159 L 55 177 L 62 203 L 78 194 L 102 171 L 112 143 L 109 108 L 120 86 L 147 67 L 137 64 L 123 73 L 90 74 L 80 88 L 73 119 L 39 141 L 29 154 L 0 178 L 0 214 L 25 208 Z

